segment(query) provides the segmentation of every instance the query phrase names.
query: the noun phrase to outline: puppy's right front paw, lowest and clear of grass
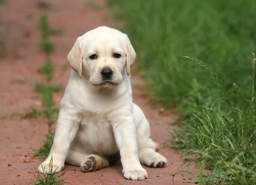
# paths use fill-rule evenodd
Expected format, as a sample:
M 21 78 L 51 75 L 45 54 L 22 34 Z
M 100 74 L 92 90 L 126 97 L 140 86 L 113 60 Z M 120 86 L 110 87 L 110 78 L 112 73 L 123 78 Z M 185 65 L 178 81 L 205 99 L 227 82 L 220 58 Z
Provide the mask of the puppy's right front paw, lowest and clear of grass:
M 132 180 L 143 180 L 148 178 L 147 171 L 143 169 L 142 167 L 140 168 L 134 168 L 134 169 L 129 169 L 129 170 L 123 170 L 124 177 L 126 179 L 132 179 Z

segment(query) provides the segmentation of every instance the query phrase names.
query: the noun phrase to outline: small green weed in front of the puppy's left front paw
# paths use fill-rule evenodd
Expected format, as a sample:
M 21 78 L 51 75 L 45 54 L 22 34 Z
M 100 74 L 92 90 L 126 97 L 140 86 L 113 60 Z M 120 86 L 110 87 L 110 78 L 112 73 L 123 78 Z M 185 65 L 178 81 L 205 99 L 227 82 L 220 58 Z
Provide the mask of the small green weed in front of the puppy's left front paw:
M 62 178 L 64 173 L 61 173 L 60 176 L 58 176 L 58 173 L 55 171 L 52 171 L 52 159 L 50 160 L 50 171 L 47 174 L 40 174 L 37 173 L 37 175 L 34 174 L 36 181 L 30 182 L 29 184 L 34 185 L 62 185 L 62 184 L 70 184 L 68 182 L 65 182 L 64 180 L 67 179 L 67 177 Z M 35 169 L 36 171 L 36 169 Z

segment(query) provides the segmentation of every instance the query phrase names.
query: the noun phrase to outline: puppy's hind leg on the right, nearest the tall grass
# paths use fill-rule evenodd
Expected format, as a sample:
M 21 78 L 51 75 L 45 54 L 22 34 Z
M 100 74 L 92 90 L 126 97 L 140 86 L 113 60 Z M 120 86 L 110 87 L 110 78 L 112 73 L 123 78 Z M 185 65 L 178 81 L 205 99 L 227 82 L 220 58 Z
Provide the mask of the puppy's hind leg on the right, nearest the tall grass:
M 134 105 L 134 117 L 137 125 L 137 144 L 140 163 L 148 167 L 164 167 L 167 164 L 167 160 L 160 153 L 156 152 L 156 145 L 150 137 L 148 120 L 137 105 Z

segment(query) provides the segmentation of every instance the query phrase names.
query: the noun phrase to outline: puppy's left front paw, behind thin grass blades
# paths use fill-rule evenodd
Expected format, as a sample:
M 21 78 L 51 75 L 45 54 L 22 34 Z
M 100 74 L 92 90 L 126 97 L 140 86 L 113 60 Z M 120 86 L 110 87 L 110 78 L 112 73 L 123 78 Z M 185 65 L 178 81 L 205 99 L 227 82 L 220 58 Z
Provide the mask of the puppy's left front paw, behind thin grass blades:
M 64 164 L 61 164 L 61 162 L 43 162 L 39 167 L 38 167 L 38 172 L 39 173 L 57 173 L 61 171 L 61 169 L 64 167 Z

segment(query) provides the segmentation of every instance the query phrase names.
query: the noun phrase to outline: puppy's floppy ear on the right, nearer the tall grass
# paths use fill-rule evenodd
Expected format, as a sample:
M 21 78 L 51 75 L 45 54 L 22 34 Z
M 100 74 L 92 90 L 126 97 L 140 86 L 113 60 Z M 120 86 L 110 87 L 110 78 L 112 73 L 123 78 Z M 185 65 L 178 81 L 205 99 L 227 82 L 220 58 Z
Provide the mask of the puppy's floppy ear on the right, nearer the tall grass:
M 126 52 L 126 73 L 129 76 L 131 71 L 131 66 L 134 63 L 134 60 L 136 58 L 136 52 L 131 45 L 131 42 L 128 38 L 128 36 L 125 34 L 125 52 Z

